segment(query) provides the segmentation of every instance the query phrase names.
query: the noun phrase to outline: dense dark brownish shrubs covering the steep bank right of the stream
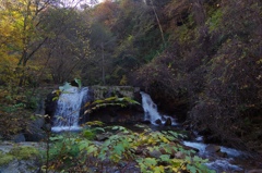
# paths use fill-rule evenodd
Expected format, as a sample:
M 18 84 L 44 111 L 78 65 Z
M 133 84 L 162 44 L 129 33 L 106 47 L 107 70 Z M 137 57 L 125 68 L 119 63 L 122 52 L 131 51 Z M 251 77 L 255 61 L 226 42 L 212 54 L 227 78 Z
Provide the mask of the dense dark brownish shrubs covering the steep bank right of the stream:
M 188 118 L 213 135 L 211 141 L 255 149 L 262 125 L 261 2 L 183 0 L 165 8 L 166 20 L 176 23 L 169 25 L 171 46 L 136 72 L 136 83 L 156 99 L 187 104 Z

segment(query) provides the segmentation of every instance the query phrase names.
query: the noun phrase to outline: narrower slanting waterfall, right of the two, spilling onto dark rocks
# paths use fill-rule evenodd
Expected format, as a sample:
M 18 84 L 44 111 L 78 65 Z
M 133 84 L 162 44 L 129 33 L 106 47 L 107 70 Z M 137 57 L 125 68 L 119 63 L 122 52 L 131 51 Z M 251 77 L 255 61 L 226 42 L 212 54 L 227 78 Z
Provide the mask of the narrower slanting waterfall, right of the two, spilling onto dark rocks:
M 156 125 L 156 121 L 160 121 L 162 124 L 165 124 L 167 119 L 171 120 L 171 125 L 176 125 L 176 121 L 174 118 L 170 118 L 168 115 L 160 115 L 157 111 L 157 106 L 152 100 L 151 96 L 148 94 L 145 94 L 143 91 L 140 92 L 142 96 L 142 107 L 144 109 L 144 120 L 150 121 L 152 124 Z

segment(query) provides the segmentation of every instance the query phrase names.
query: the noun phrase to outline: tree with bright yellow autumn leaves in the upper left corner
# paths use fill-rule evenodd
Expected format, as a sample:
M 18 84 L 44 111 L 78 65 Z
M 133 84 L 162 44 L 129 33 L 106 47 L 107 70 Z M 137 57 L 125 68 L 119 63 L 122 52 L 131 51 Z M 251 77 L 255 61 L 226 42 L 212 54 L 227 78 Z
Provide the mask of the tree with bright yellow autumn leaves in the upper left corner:
M 0 29 L 7 30 L 7 27 L 9 27 L 9 34 L 7 32 L 5 34 L 2 33 L 1 45 L 5 45 L 3 49 L 7 58 L 13 57 L 16 59 L 20 86 L 25 83 L 28 60 L 34 57 L 48 38 L 47 34 L 38 26 L 41 22 L 40 14 L 50 3 L 51 0 L 3 0 L 0 2 L 2 7 Z

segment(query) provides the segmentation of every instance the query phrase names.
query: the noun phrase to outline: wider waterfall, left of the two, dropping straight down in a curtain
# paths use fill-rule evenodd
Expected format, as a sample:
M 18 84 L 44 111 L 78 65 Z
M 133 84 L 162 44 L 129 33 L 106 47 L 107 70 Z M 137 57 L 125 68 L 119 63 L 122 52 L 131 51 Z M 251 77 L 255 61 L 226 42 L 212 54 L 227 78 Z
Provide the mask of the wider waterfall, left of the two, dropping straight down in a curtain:
M 82 102 L 87 99 L 87 87 L 70 87 L 64 90 L 57 103 L 52 132 L 78 131 Z

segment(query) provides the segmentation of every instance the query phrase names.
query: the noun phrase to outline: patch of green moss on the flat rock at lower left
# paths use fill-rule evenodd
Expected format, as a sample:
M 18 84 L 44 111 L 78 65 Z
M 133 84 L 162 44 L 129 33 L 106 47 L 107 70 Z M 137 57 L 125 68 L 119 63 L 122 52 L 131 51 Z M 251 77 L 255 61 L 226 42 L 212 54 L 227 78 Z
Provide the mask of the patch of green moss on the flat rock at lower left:
M 28 146 L 15 147 L 11 149 L 9 153 L 14 156 L 19 160 L 26 160 L 32 157 L 39 156 L 39 151 L 36 148 Z

